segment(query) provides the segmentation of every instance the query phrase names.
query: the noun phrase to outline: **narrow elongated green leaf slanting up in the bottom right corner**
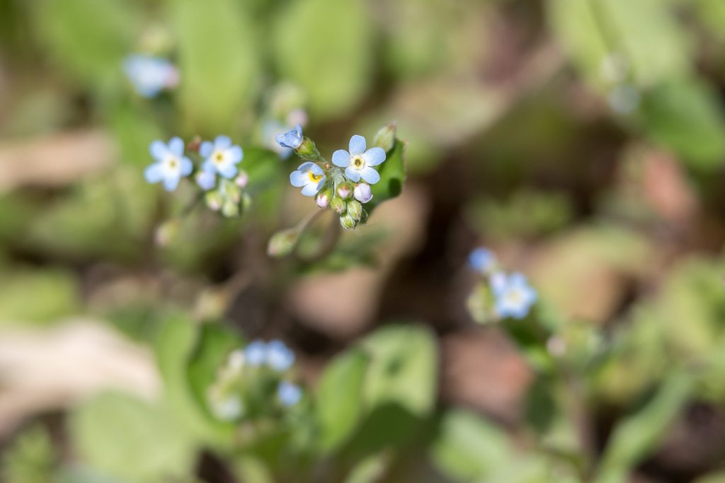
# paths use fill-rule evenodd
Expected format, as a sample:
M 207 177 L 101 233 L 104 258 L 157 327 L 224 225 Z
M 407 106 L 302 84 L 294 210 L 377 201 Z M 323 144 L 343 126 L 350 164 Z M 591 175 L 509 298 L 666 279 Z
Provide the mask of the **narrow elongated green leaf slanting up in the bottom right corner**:
M 683 371 L 674 371 L 645 408 L 618 423 L 605 448 L 596 482 L 626 481 L 630 469 L 657 448 L 691 392 L 692 379 Z

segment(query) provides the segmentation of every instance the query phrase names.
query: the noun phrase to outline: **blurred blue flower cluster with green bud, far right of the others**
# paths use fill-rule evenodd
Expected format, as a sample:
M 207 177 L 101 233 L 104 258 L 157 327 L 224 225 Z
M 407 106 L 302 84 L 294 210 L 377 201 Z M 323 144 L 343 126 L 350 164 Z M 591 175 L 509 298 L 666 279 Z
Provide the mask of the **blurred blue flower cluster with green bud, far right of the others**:
M 468 266 L 484 281 L 468 297 L 468 309 L 477 322 L 492 322 L 512 317 L 523 319 L 537 301 L 537 291 L 526 276 L 506 274 L 498 268 L 496 256 L 488 248 L 476 248 L 468 256 Z

